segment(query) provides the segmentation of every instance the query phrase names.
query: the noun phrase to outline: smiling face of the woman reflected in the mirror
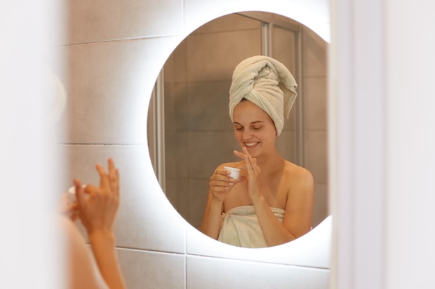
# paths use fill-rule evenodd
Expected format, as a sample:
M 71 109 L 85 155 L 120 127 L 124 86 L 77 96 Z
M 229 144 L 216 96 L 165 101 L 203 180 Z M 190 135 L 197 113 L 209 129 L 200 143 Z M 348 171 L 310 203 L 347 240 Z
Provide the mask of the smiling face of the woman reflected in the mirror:
M 270 116 L 250 101 L 243 100 L 233 110 L 234 136 L 252 157 L 275 150 L 277 130 Z

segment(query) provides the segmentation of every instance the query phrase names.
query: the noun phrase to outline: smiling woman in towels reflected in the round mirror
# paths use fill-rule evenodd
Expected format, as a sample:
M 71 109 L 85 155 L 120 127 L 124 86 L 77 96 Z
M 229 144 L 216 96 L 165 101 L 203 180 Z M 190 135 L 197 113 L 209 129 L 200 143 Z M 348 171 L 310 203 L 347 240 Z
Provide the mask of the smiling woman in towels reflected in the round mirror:
M 211 177 L 204 234 L 240 247 L 269 247 L 310 230 L 313 177 L 276 148 L 296 87 L 288 69 L 266 56 L 247 58 L 234 70 L 229 114 L 242 148 L 234 154 L 242 160 L 221 164 Z M 229 177 L 224 166 L 242 168 L 241 179 Z

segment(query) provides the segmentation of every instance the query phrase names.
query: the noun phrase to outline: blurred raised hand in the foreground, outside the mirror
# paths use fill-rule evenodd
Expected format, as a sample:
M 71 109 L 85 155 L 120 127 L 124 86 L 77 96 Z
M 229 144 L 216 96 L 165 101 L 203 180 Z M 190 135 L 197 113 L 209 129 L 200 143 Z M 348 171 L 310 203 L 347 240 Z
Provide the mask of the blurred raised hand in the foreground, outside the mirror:
M 100 164 L 96 168 L 99 187 L 88 185 L 83 189 L 81 182 L 74 179 L 79 217 L 88 234 L 112 231 L 120 204 L 120 175 L 113 159 L 108 160 L 108 173 Z

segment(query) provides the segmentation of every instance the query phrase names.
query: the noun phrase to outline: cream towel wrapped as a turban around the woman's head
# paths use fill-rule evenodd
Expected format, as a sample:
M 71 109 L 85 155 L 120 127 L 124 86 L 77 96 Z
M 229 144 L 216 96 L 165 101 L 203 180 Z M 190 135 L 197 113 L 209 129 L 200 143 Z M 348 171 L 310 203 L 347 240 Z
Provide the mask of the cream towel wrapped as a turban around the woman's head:
M 229 116 L 243 98 L 261 107 L 274 122 L 277 135 L 284 128 L 297 97 L 295 78 L 281 62 L 258 55 L 240 62 L 233 72 L 229 89 Z

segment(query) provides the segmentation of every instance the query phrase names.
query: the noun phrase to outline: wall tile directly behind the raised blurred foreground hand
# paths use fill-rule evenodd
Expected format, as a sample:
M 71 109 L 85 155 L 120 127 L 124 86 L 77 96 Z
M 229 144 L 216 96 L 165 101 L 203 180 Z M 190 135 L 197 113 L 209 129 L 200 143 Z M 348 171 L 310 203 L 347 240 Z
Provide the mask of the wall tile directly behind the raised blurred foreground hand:
M 117 245 L 163 252 L 185 252 L 184 220 L 173 209 L 150 169 L 147 146 L 67 145 L 65 189 L 72 179 L 99 184 L 95 164 L 107 168 L 113 157 L 120 170 L 121 200 L 115 223 Z

